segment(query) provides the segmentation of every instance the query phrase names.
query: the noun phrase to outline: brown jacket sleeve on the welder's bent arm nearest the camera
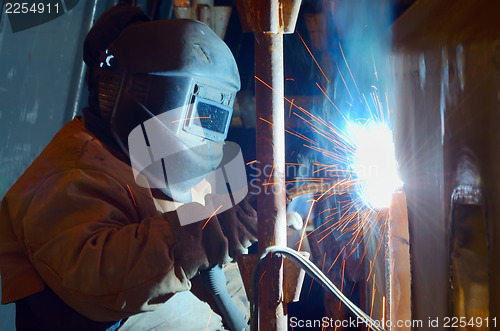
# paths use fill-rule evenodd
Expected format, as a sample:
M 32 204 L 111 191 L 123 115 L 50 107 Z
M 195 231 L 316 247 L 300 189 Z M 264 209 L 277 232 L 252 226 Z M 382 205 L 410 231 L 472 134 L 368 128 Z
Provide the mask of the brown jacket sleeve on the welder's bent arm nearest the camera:
M 23 226 L 28 255 L 43 280 L 93 320 L 152 310 L 176 291 L 190 289 L 176 259 L 183 240 L 174 230 L 176 213 L 139 219 L 129 192 L 102 172 L 71 169 L 46 179 Z M 196 244 L 209 236 L 212 254 L 224 256 L 227 240 L 214 226 L 191 240 Z M 207 256 L 203 248 L 191 247 L 199 265 L 220 259 Z

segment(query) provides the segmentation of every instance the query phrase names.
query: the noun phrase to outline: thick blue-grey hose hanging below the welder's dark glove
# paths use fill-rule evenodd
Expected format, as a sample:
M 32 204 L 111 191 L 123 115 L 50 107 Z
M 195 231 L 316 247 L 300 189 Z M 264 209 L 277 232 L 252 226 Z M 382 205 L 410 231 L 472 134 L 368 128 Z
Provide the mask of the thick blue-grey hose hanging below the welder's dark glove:
M 220 266 L 200 271 L 205 289 L 212 295 L 220 310 L 222 319 L 231 331 L 242 331 L 248 328 L 246 318 L 240 313 L 229 296 L 226 287 L 226 276 Z

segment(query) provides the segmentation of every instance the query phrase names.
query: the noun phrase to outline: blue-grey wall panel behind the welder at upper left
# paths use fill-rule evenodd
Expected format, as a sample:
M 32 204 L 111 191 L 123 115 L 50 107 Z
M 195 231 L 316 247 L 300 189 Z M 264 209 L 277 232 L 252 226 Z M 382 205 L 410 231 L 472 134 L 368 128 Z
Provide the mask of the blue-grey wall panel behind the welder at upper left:
M 65 10 L 69 2 L 59 17 L 17 32 L 2 3 L 0 198 L 85 101 L 83 40 L 93 18 L 112 2 L 71 1 L 76 5 Z M 0 306 L 0 330 L 14 330 L 13 308 Z

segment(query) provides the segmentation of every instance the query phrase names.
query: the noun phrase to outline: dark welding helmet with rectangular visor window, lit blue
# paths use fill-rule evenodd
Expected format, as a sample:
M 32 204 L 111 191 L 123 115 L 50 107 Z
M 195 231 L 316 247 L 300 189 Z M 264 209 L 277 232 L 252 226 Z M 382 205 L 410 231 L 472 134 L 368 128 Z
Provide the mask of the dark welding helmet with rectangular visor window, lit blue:
M 189 202 L 183 194 L 222 160 L 240 89 L 227 45 L 194 20 L 134 24 L 105 50 L 99 71 L 101 112 L 108 108 L 134 174 Z

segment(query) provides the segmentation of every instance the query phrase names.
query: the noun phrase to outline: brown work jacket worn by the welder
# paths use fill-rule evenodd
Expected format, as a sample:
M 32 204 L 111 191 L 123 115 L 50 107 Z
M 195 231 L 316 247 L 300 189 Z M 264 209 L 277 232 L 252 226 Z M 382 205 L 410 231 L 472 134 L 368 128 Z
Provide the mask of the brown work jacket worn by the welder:
M 75 118 L 2 201 L 2 303 L 49 286 L 96 321 L 153 310 L 191 287 L 174 258 L 176 217 Z

